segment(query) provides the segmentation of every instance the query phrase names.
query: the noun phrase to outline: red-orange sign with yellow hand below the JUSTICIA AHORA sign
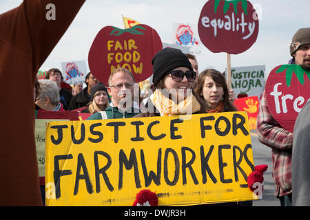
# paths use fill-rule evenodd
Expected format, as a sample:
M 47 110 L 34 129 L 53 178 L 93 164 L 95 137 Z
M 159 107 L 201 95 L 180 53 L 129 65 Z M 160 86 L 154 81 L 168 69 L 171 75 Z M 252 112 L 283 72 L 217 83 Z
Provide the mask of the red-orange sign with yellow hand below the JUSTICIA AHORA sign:
M 246 98 L 237 98 L 234 101 L 234 106 L 238 111 L 247 111 L 247 118 L 249 119 L 249 129 L 256 129 L 258 108 L 260 106 L 258 97 L 250 96 Z

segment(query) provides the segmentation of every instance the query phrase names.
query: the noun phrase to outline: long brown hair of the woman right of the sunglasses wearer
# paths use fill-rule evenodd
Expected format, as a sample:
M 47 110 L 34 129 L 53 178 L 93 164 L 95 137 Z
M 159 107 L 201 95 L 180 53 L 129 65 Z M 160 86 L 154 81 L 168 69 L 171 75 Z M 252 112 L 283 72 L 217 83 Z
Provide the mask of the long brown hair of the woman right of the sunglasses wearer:
M 229 100 L 229 91 L 228 91 L 225 77 L 223 76 L 223 74 L 218 72 L 216 69 L 205 69 L 203 72 L 201 72 L 198 76 L 197 83 L 194 87 L 194 93 L 200 99 L 200 102 L 203 102 L 203 104 L 205 104 L 205 108 L 207 109 L 209 105 L 207 104 L 207 101 L 203 98 L 203 96 L 200 96 L 200 94 L 201 94 L 201 91 L 203 91 L 203 86 L 205 85 L 206 76 L 211 77 L 214 80 L 214 82 L 220 84 L 223 87 L 223 91 L 224 91 L 223 101 L 225 104 L 225 111 L 237 111 L 236 107 L 234 107 L 234 104 L 232 104 Z

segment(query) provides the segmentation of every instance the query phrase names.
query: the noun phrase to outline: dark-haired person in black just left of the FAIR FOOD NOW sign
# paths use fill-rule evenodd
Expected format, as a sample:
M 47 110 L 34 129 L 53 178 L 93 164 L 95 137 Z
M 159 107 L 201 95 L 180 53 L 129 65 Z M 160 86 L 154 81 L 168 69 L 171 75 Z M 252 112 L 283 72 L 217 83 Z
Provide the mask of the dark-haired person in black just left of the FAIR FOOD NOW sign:
M 88 103 L 90 103 L 90 89 L 94 87 L 94 85 L 98 84 L 99 81 L 89 72 L 85 77 L 85 83 L 87 87 L 85 87 L 79 94 L 76 94 L 72 97 L 68 110 L 80 109 L 82 107 L 86 107 Z

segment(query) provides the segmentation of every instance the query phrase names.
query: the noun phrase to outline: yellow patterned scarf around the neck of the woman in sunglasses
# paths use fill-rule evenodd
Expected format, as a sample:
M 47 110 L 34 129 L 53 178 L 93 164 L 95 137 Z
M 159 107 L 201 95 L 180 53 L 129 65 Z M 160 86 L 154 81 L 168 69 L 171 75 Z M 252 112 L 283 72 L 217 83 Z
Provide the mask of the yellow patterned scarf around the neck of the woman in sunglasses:
M 161 113 L 161 116 L 185 115 L 195 113 L 200 110 L 200 103 L 192 93 L 179 104 L 174 103 L 174 101 L 164 96 L 158 89 L 156 89 L 154 94 L 152 94 L 149 98 Z

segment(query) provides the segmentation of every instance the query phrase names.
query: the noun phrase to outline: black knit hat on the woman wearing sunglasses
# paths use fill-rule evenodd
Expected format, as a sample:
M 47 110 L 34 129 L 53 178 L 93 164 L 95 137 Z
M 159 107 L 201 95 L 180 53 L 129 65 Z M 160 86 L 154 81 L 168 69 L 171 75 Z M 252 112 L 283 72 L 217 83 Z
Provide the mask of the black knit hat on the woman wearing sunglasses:
M 174 48 L 160 50 L 152 59 L 153 84 L 158 83 L 163 76 L 176 67 L 187 67 L 193 70 L 192 64 L 182 51 Z

